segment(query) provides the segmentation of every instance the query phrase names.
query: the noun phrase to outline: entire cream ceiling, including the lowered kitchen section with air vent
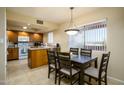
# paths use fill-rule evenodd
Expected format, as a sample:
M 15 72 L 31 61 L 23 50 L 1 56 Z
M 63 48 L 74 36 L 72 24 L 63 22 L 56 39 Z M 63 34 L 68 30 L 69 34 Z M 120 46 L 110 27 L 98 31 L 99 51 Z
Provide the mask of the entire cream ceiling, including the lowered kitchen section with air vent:
M 93 12 L 99 8 L 92 7 L 75 7 L 73 10 L 73 17 L 83 17 L 90 12 Z M 69 7 L 8 7 L 7 11 L 10 11 L 12 16 L 11 20 L 7 19 L 7 30 L 15 30 L 15 31 L 27 31 L 27 32 L 37 32 L 37 33 L 45 33 L 50 31 L 55 31 L 59 24 L 70 21 L 70 9 Z M 23 16 L 21 20 L 20 17 Z M 30 23 L 28 26 L 28 21 L 25 20 L 25 17 L 30 18 L 30 21 L 34 19 L 43 20 L 44 23 L 48 22 L 52 25 L 39 25 L 36 23 Z M 25 22 L 24 22 L 25 20 Z M 23 21 L 23 22 L 22 22 Z M 54 25 L 54 26 L 53 26 Z M 55 26 L 56 25 L 56 26 Z M 27 29 L 23 29 L 23 27 L 28 27 Z

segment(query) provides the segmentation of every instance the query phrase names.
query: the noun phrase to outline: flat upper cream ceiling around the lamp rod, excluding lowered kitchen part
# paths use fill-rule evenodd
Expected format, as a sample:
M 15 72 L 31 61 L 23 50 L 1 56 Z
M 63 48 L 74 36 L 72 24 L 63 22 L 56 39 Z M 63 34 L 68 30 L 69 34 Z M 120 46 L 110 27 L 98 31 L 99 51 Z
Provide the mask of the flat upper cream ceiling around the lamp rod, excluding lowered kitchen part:
M 75 7 L 73 16 L 77 18 L 93 12 L 96 9 L 98 8 Z M 7 10 L 57 24 L 70 20 L 70 9 L 68 7 L 11 7 L 7 8 Z

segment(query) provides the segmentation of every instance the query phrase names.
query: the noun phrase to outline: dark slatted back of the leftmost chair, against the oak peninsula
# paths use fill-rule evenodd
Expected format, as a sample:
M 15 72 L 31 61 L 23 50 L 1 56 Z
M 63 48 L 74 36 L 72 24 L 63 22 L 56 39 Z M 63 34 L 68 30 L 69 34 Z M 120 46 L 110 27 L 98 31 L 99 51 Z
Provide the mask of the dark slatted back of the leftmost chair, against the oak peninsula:
M 47 56 L 48 56 L 48 64 L 54 64 L 56 67 L 56 56 L 55 56 L 55 51 L 47 51 Z

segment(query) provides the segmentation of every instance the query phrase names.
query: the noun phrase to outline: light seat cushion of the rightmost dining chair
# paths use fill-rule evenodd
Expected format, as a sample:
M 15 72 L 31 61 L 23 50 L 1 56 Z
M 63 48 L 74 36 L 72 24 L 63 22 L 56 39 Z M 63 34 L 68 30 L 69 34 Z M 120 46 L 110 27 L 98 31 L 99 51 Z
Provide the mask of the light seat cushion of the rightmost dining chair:
M 99 69 L 96 69 L 94 67 L 89 67 L 85 70 L 85 74 L 98 79 Z M 105 76 L 105 72 L 102 73 L 101 77 L 104 77 L 104 76 Z

